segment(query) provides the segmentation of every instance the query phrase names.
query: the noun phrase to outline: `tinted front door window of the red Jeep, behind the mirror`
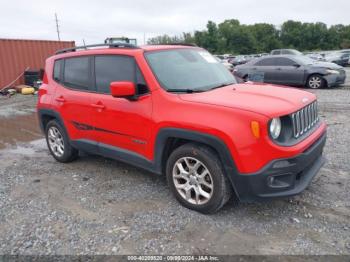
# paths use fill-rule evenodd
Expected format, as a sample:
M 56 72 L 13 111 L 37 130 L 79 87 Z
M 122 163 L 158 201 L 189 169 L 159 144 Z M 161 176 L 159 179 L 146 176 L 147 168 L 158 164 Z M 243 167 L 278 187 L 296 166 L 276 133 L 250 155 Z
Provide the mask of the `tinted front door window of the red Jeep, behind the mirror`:
M 136 69 L 136 71 L 135 71 Z M 137 93 L 148 93 L 146 82 L 135 64 L 135 60 L 129 56 L 96 56 L 95 74 L 97 92 L 109 94 L 109 85 L 113 81 L 136 81 Z

